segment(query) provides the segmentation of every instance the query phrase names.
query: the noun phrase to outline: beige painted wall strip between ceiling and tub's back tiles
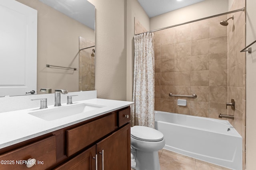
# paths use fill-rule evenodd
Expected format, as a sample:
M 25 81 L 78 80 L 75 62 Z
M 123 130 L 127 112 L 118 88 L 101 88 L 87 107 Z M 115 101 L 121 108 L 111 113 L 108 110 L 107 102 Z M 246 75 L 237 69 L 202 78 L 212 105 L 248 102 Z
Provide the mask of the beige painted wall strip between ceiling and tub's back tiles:
M 150 18 L 150 30 L 197 20 L 227 11 L 228 0 L 204 0 L 197 4 Z

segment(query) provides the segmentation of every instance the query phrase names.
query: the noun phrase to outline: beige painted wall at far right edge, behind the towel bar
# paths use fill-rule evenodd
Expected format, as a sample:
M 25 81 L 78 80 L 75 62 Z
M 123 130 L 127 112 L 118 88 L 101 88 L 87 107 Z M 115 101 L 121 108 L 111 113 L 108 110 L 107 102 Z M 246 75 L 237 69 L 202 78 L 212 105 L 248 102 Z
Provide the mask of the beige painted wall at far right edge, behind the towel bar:
M 256 40 L 256 1 L 246 0 L 246 45 Z M 246 52 L 246 169 L 256 169 L 256 44 L 252 53 Z

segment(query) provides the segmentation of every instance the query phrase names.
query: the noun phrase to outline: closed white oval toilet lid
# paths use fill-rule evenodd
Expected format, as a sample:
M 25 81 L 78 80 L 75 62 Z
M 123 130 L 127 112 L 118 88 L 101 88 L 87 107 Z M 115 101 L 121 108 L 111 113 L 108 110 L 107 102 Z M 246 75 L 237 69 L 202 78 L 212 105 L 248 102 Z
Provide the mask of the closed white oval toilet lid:
M 131 137 L 140 141 L 157 142 L 164 139 L 164 134 L 151 127 L 134 126 L 131 127 Z

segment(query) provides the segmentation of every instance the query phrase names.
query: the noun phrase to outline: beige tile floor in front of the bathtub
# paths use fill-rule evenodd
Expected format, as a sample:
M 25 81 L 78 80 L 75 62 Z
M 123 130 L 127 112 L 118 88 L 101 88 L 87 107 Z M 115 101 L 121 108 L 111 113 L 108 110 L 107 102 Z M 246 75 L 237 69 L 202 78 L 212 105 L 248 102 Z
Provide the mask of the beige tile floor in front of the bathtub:
M 161 170 L 230 170 L 165 149 L 158 153 Z

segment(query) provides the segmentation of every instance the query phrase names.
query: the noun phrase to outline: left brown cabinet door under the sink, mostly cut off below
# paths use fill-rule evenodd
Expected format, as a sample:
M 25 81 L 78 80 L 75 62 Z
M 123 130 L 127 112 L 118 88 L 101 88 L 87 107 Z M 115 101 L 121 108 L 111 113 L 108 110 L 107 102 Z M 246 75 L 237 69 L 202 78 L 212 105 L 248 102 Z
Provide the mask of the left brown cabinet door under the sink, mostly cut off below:
M 72 158 L 54 170 L 95 170 L 96 145 Z

